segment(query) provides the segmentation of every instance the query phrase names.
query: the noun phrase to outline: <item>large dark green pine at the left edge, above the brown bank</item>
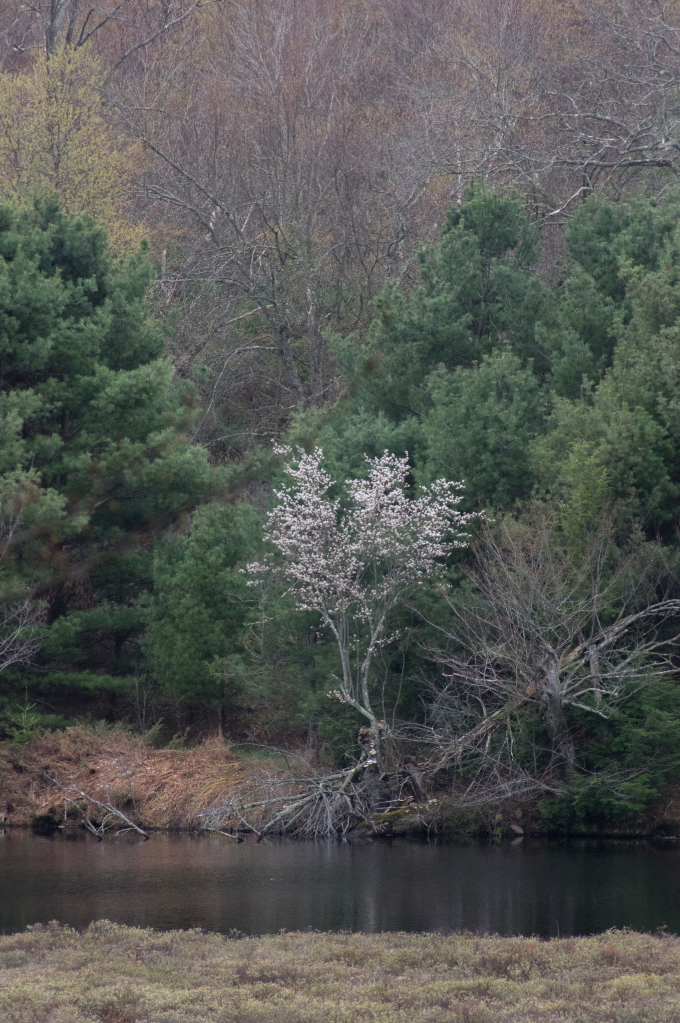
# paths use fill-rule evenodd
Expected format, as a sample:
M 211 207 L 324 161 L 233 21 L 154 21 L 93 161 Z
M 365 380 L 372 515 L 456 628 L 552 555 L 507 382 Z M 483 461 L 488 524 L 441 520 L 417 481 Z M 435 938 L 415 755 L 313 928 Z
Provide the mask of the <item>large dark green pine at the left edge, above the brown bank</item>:
M 184 437 L 192 392 L 162 357 L 144 255 L 116 263 L 90 218 L 38 198 L 0 207 L 0 485 L 20 523 L 2 584 L 49 604 L 41 662 L 17 684 L 110 691 L 135 662 L 149 545 L 214 474 Z

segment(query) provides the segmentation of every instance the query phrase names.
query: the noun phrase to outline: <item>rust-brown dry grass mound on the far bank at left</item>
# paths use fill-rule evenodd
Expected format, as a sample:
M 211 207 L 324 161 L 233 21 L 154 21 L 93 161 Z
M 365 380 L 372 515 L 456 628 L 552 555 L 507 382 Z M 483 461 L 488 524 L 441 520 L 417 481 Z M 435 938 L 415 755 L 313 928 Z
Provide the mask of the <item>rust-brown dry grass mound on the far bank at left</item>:
M 246 793 L 257 769 L 219 740 L 155 750 L 131 732 L 77 725 L 22 747 L 0 745 L 0 810 L 9 825 L 50 810 L 60 819 L 64 793 L 80 790 L 145 828 L 195 827 L 196 814 L 218 798 Z

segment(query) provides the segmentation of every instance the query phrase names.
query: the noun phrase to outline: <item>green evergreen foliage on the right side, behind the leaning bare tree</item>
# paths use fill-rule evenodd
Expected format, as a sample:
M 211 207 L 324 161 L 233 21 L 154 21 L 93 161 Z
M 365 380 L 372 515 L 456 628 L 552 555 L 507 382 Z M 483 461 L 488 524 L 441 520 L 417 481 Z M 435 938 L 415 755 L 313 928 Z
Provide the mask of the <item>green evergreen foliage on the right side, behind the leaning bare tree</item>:
M 649 538 L 672 541 L 680 485 L 679 220 L 677 192 L 659 202 L 589 199 L 566 231 L 561 279 L 541 285 L 518 205 L 470 189 L 449 214 L 440 246 L 420 252 L 420 286 L 406 297 L 394 284 L 384 290 L 364 347 L 355 337 L 332 341 L 345 401 L 320 427 L 301 415 L 292 436 L 318 437 L 334 478 L 360 475 L 363 452 L 408 450 L 414 481 L 464 480 L 463 507 L 486 507 L 498 528 L 508 513 L 528 511 L 539 529 L 552 521 L 551 557 L 571 565 L 574 578 L 607 521 L 621 550 L 639 525 Z M 673 548 L 658 547 L 644 548 L 644 558 L 661 559 L 656 585 L 673 593 Z M 616 544 L 610 550 L 597 569 L 605 587 L 621 557 Z M 463 614 L 478 599 L 474 587 L 460 585 L 455 564 L 450 578 Z M 446 608 L 422 594 L 410 632 L 416 652 L 438 646 L 434 623 L 446 631 Z M 422 653 L 413 653 L 411 672 L 441 686 Z M 566 727 L 580 738 L 564 794 L 544 804 L 546 822 L 585 827 L 643 811 L 677 775 L 676 692 L 674 679 L 652 681 L 606 724 L 581 720 L 588 715 L 578 708 L 568 712 Z M 531 774 L 553 740 L 540 715 L 524 706 L 514 713 L 516 759 L 507 769 Z M 491 751 L 501 757 L 502 748 Z M 471 763 L 470 782 L 481 770 Z

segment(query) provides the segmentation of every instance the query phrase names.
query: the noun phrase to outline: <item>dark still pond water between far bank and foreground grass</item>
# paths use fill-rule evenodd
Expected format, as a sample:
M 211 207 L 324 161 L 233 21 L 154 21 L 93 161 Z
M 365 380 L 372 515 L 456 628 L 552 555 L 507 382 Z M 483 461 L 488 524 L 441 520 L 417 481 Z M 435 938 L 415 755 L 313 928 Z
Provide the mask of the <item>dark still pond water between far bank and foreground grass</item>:
M 0 932 L 58 920 L 286 930 L 609 927 L 680 933 L 680 850 L 643 842 L 436 845 L 0 832 Z

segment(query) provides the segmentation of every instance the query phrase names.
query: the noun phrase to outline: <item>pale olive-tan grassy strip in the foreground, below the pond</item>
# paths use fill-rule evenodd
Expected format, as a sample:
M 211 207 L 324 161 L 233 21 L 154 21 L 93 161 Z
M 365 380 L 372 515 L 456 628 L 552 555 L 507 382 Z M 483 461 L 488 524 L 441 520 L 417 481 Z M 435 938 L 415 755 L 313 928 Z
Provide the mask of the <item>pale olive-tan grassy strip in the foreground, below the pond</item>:
M 680 938 L 279 934 L 92 924 L 0 937 L 6 1023 L 677 1023 Z

